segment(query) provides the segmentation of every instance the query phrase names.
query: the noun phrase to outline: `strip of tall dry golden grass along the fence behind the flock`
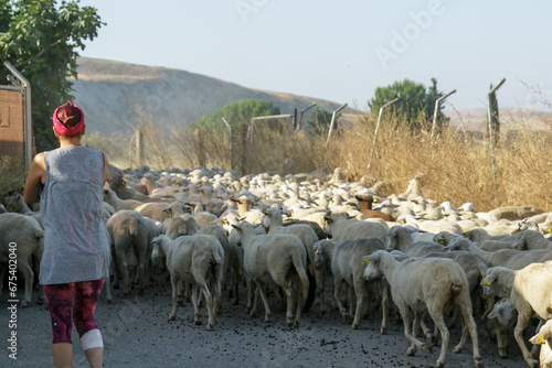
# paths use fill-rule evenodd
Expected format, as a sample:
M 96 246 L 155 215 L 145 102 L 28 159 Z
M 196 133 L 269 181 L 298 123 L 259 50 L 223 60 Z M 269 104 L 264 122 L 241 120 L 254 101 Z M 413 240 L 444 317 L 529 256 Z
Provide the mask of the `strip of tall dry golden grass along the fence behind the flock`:
M 276 129 L 259 125 L 247 136 L 245 129 L 235 128 L 232 158 L 227 130 L 159 129 L 159 122 L 146 115 L 131 128 L 144 131 L 141 164 L 152 170 L 203 165 L 234 169 L 242 175 L 265 171 L 286 174 L 283 162 L 291 159 L 294 165 L 286 167 L 293 173 L 341 167 L 350 181 L 384 182 L 385 195 L 404 192 L 406 181 L 422 173 L 424 197 L 437 202 L 471 202 L 478 210 L 521 205 L 552 210 L 552 125 L 545 117 L 537 122 L 533 117 L 531 126 L 524 122 L 527 116 L 510 118 L 493 147 L 493 160 L 484 131 L 449 127 L 432 139 L 428 132 L 413 132 L 392 119 L 382 121 L 375 144 L 374 127 L 365 123 L 367 119 L 335 131 L 328 147 L 323 130 L 311 136 L 291 132 L 283 125 Z M 102 149 L 120 167 L 140 164 L 132 133 L 109 139 L 85 136 L 84 142 Z

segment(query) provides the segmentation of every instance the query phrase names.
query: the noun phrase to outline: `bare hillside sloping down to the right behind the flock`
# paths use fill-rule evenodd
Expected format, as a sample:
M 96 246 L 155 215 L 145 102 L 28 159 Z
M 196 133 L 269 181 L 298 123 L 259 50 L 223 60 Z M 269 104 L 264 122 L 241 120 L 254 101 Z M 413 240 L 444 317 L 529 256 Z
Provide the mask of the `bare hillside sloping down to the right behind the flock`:
M 78 79 L 73 80 L 75 104 L 86 111 L 87 132 L 103 136 L 128 130 L 136 117 L 144 113 L 161 126 L 189 125 L 245 98 L 272 100 L 282 113 L 293 113 L 295 108 L 300 111 L 312 102 L 328 111 L 340 106 L 317 98 L 246 88 L 185 71 L 96 58 L 79 58 L 77 73 Z M 347 108 L 343 112 L 349 116 L 355 110 Z

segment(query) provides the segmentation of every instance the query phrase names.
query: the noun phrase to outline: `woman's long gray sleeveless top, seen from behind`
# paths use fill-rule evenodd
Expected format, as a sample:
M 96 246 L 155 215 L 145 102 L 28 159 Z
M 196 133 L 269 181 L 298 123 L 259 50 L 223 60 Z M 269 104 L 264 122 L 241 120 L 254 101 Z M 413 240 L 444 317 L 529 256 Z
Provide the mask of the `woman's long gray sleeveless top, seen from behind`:
M 102 220 L 104 158 L 85 147 L 44 152 L 46 181 L 40 198 L 44 226 L 41 284 L 107 277 L 110 262 Z

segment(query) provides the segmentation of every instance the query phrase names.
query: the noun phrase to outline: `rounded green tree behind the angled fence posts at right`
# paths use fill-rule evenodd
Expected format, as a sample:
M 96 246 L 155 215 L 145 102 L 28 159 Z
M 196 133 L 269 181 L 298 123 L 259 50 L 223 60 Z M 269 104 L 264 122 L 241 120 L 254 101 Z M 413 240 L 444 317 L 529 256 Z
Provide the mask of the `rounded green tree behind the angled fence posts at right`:
M 426 122 L 433 120 L 436 100 L 443 96 L 437 89 L 437 79 L 432 78 L 432 86 L 426 89 L 423 84 L 404 79 L 395 82 L 386 87 L 378 87 L 374 97 L 368 101 L 372 110 L 372 116 L 378 117 L 380 108 L 399 98 L 385 112 L 393 113 L 397 123 L 405 121 L 414 129 L 421 129 Z M 439 126 L 446 125 L 448 119 L 443 115 L 443 101 L 439 104 L 437 122 Z

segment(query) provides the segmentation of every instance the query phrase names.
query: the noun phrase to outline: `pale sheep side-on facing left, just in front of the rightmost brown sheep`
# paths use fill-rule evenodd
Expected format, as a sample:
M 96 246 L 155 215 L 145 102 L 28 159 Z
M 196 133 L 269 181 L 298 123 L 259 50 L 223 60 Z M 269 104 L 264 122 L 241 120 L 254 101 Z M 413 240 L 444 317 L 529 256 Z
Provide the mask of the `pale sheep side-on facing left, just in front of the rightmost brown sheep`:
M 378 238 L 385 243 L 388 239 L 388 230 L 376 223 L 351 220 L 341 212 L 329 212 L 323 218 L 328 223 L 326 235 L 333 240 Z

